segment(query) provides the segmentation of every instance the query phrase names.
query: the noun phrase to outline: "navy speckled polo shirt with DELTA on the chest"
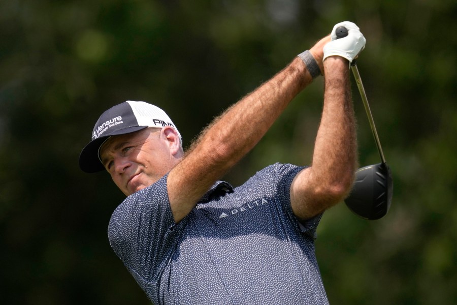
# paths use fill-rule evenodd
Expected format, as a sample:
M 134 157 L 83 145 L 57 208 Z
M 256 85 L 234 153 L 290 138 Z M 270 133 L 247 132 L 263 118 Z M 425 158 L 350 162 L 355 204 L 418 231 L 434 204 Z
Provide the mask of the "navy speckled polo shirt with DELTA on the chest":
M 327 304 L 321 215 L 300 226 L 290 206 L 301 169 L 276 163 L 235 189 L 219 181 L 176 225 L 164 176 L 114 211 L 111 247 L 154 304 Z

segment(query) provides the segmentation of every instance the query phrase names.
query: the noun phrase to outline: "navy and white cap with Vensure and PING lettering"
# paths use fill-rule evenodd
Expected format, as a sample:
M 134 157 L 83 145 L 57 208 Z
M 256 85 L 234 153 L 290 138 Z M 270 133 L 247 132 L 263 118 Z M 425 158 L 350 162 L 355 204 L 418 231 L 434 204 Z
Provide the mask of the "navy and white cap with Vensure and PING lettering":
M 164 110 L 145 102 L 126 101 L 118 104 L 105 111 L 95 123 L 91 134 L 92 140 L 79 156 L 79 167 L 89 173 L 103 170 L 98 155 L 99 149 L 110 136 L 123 135 L 148 127 L 165 126 L 171 126 L 176 130 L 182 145 L 181 134 Z

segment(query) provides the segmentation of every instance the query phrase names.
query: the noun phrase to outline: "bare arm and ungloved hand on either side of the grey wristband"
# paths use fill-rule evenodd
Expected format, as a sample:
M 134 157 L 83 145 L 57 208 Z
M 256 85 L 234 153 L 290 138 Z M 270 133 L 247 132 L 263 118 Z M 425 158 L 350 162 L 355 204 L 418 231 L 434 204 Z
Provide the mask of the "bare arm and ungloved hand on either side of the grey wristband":
M 310 52 L 323 70 L 320 40 Z M 182 220 L 214 182 L 236 164 L 259 140 L 288 103 L 312 77 L 296 57 L 272 79 L 216 118 L 183 160 L 169 173 L 168 193 L 175 222 Z

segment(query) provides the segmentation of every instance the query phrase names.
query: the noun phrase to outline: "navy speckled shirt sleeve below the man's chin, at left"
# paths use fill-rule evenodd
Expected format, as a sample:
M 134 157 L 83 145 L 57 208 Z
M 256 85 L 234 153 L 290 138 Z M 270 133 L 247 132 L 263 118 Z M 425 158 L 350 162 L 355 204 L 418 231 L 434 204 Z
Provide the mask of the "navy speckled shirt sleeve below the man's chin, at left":
M 108 226 L 111 247 L 137 281 L 155 282 L 174 248 L 167 176 L 127 197 Z

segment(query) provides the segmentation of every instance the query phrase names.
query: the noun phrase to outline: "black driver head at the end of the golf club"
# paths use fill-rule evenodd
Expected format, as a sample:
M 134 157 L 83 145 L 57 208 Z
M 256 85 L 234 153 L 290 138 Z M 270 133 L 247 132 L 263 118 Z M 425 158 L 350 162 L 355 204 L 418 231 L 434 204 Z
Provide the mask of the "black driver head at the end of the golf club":
M 344 202 L 357 216 L 376 220 L 387 214 L 392 191 L 392 174 L 387 164 L 369 165 L 355 172 L 353 189 Z

